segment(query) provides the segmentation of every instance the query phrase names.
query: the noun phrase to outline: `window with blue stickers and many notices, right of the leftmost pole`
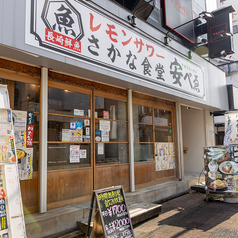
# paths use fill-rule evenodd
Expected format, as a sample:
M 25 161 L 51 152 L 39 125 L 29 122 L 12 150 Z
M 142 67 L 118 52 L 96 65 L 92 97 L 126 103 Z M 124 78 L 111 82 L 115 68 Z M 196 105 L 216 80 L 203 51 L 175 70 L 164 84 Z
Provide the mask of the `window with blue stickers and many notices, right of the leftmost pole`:
M 90 95 L 49 87 L 48 170 L 90 166 L 90 117 Z

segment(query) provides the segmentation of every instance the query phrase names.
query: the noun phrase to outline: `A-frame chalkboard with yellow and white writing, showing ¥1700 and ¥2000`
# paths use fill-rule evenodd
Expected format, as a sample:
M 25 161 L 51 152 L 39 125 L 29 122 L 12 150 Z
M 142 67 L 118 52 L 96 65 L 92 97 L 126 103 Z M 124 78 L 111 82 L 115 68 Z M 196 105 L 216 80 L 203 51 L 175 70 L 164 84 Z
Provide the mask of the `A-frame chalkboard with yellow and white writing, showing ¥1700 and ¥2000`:
M 97 232 L 99 230 L 97 224 L 99 221 L 98 215 L 100 215 L 104 237 L 135 237 L 122 186 L 95 190 L 92 201 L 94 197 L 96 198 L 96 208 L 98 208 L 95 211 L 94 218 L 93 232 L 95 237 L 99 237 L 99 234 L 95 233 L 95 230 Z

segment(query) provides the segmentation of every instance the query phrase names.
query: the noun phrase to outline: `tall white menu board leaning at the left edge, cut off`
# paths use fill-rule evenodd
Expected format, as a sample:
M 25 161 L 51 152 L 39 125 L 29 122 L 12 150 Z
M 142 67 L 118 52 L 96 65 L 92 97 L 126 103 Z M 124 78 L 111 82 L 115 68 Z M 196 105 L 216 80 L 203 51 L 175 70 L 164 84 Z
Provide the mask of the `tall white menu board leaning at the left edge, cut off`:
M 0 237 L 26 237 L 11 109 L 0 109 Z

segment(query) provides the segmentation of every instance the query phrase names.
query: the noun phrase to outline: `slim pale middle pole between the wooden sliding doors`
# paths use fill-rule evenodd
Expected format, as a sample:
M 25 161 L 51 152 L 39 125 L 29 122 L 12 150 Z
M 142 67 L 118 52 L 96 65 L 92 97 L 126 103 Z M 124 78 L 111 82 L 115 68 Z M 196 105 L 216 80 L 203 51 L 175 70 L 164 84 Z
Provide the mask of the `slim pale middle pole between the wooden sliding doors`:
M 130 192 L 135 191 L 134 170 L 134 141 L 133 141 L 133 114 L 132 114 L 132 90 L 128 89 L 128 123 L 129 123 L 129 156 L 130 156 Z

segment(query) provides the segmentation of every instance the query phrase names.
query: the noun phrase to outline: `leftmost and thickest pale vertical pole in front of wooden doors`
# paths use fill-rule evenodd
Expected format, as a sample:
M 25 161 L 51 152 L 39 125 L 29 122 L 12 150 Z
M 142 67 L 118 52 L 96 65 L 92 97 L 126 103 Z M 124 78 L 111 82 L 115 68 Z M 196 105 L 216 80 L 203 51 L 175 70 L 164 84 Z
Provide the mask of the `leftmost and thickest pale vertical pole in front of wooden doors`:
M 39 212 L 47 210 L 47 131 L 48 131 L 48 68 L 41 68 L 40 91 L 40 207 Z

